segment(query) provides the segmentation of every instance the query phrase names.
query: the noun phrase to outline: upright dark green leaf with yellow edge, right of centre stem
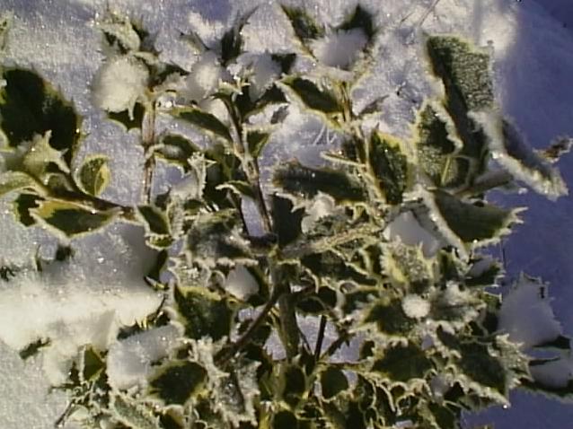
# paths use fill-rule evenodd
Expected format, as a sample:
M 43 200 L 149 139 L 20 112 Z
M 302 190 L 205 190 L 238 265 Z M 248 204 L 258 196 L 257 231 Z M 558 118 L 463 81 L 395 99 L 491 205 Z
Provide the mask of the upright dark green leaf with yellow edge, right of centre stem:
M 370 138 L 370 168 L 380 192 L 388 204 L 402 201 L 408 187 L 408 159 L 401 151 L 401 142 L 391 136 L 373 133 Z

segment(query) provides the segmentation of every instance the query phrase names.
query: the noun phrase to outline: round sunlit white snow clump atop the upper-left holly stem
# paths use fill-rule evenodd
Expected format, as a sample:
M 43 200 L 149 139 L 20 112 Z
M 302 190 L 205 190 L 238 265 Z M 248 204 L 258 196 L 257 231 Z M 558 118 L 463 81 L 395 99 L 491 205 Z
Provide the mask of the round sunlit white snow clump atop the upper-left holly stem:
M 93 79 L 93 103 L 110 112 L 128 110 L 133 120 L 136 102 L 144 95 L 149 72 L 137 59 L 111 57 Z

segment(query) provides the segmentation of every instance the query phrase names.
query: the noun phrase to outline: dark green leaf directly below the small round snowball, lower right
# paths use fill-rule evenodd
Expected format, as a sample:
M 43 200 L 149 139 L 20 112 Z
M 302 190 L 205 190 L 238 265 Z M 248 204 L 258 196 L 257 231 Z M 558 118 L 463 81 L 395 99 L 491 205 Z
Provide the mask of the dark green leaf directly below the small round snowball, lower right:
M 380 372 L 390 381 L 408 382 L 413 379 L 424 379 L 433 368 L 433 363 L 426 353 L 409 343 L 407 346 L 388 346 L 383 357 L 375 361 L 372 370 Z

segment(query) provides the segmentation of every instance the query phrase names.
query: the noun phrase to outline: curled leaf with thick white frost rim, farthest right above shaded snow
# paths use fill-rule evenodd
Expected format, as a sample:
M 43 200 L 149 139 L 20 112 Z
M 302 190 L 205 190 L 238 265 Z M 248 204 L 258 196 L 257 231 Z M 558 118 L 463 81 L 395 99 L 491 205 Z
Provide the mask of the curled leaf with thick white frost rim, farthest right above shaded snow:
M 472 113 L 472 118 L 483 127 L 488 136 L 493 159 L 515 179 L 551 199 L 568 194 L 567 185 L 559 171 L 533 152 L 510 122 L 491 111 Z

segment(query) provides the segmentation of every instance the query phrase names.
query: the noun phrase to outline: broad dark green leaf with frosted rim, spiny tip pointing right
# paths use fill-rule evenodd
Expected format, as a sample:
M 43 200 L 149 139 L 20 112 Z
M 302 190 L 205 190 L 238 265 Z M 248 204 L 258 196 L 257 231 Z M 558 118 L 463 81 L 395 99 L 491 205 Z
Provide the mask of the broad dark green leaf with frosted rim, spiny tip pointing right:
M 466 243 L 498 238 L 517 221 L 513 211 L 487 203 L 466 203 L 443 191 L 434 198 L 447 227 Z

